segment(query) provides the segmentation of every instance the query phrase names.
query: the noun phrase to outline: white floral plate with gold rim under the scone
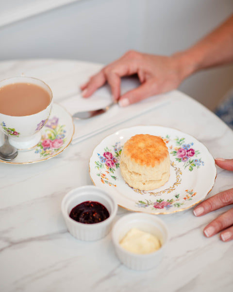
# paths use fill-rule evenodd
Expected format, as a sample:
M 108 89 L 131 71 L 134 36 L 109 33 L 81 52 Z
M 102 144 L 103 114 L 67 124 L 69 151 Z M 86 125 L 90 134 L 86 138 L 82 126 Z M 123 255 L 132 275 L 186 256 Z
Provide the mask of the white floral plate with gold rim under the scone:
M 151 191 L 133 189 L 120 174 L 120 153 L 133 135 L 161 136 L 170 154 L 170 177 Z M 91 180 L 111 192 L 119 206 L 131 211 L 169 214 L 183 211 L 203 200 L 216 179 L 216 166 L 208 149 L 194 137 L 173 128 L 135 126 L 123 128 L 95 147 L 89 161 Z

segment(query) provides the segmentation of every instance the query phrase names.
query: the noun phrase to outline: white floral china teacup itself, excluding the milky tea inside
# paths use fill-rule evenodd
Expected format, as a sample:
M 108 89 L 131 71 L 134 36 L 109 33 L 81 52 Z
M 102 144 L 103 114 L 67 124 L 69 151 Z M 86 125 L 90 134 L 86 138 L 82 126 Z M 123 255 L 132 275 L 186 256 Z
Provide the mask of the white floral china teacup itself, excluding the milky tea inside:
M 36 146 L 41 139 L 41 129 L 49 119 L 52 108 L 52 91 L 50 87 L 43 81 L 33 77 L 12 77 L 0 81 L 0 89 L 3 86 L 27 83 L 37 85 L 46 90 L 50 95 L 49 105 L 38 112 L 31 115 L 13 116 L 1 113 L 0 109 L 0 130 L 7 134 L 9 142 L 17 149 L 30 149 Z

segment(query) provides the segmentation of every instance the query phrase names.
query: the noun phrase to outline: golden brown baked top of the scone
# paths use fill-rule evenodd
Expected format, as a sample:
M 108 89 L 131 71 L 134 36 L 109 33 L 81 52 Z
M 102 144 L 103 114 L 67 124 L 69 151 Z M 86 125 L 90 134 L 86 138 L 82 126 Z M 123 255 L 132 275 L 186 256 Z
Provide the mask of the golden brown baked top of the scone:
M 166 143 L 161 137 L 137 134 L 124 144 L 124 154 L 137 164 L 154 167 L 169 155 Z

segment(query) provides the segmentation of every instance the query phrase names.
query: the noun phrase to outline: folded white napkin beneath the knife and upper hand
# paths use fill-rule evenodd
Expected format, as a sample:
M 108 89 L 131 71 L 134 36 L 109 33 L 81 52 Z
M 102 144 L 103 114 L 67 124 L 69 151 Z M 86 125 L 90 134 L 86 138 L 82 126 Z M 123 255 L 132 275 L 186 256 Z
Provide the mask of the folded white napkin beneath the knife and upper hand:
M 121 94 L 132 90 L 140 85 L 136 78 L 125 77 L 121 81 Z M 166 97 L 165 97 L 166 96 Z M 137 115 L 152 110 L 169 101 L 169 93 L 151 96 L 138 103 L 121 108 L 118 104 L 111 107 L 108 111 L 98 116 L 86 120 L 74 119 L 75 132 L 71 144 L 83 141 L 93 135 L 100 133 L 108 128 L 125 122 Z M 63 106 L 71 115 L 77 111 L 97 110 L 104 108 L 112 102 L 111 90 L 109 85 L 105 85 L 97 90 L 91 97 L 83 98 L 81 93 L 61 101 Z

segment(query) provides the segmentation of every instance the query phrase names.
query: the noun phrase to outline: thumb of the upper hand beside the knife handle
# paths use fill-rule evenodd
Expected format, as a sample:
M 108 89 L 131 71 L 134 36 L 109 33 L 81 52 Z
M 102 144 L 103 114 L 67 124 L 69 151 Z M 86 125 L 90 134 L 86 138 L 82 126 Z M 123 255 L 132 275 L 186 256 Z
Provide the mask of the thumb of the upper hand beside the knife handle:
M 119 105 L 121 107 L 126 107 L 133 103 L 136 103 L 140 100 L 143 100 L 149 96 L 157 94 L 156 92 L 157 86 L 156 84 L 151 84 L 149 82 L 145 82 L 141 84 L 136 89 L 126 92 L 125 94 L 121 95 L 119 98 Z

